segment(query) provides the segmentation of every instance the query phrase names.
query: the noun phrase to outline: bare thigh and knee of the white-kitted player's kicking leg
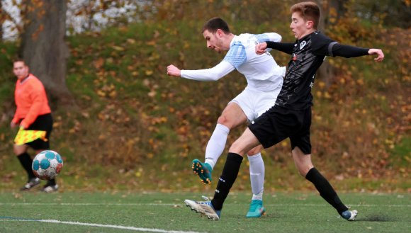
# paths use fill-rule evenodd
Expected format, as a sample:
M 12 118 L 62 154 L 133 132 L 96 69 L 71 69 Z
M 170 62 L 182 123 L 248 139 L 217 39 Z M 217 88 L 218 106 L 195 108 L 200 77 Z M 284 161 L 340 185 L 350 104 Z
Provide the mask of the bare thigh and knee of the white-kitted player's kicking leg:
M 230 102 L 218 118 L 218 123 L 230 129 L 247 122 L 247 116 L 237 103 Z

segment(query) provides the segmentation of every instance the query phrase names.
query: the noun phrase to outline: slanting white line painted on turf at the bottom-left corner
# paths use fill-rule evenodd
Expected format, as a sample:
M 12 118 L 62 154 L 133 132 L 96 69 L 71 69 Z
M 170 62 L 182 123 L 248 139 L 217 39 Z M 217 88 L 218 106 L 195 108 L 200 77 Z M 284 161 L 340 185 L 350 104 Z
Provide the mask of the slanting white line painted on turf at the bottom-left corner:
M 50 222 L 50 223 L 60 223 L 60 224 L 67 224 L 67 225 L 81 225 L 87 227 L 106 227 L 106 228 L 115 228 L 115 229 L 130 229 L 137 232 L 160 232 L 160 233 L 199 233 L 199 232 L 183 232 L 183 231 L 167 231 L 165 229 L 155 229 L 155 228 L 142 228 L 142 227 L 125 227 L 119 225 L 102 225 L 96 223 L 86 223 L 86 222 L 66 222 L 66 221 L 59 221 L 59 220 L 28 220 L 28 219 L 18 219 L 18 218 L 1 218 L 0 222 L 11 222 L 11 221 L 18 221 L 18 222 Z

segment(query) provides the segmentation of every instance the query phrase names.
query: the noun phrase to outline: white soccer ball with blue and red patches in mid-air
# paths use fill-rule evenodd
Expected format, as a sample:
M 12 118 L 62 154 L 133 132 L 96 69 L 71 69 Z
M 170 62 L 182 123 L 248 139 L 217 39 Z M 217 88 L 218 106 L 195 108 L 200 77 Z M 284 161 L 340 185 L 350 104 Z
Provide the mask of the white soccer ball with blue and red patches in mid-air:
M 38 153 L 34 159 L 31 169 L 35 176 L 42 180 L 51 180 L 62 171 L 63 160 L 60 154 L 52 150 Z

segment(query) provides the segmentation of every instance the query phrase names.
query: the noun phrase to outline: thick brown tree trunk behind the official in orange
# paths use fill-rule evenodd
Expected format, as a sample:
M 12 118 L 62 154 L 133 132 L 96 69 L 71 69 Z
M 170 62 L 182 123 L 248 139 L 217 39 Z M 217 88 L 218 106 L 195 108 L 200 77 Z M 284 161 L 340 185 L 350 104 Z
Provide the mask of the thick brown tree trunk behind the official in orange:
M 67 0 L 23 0 L 24 29 L 20 55 L 40 79 L 51 102 L 74 106 L 66 85 L 69 50 L 64 42 Z

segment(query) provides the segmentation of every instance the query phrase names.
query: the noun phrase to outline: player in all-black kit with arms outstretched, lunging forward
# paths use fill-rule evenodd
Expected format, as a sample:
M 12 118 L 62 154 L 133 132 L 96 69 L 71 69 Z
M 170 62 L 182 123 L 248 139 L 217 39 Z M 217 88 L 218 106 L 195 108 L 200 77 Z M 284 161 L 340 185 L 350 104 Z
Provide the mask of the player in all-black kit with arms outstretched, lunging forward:
M 237 178 L 243 155 L 258 144 L 271 147 L 286 138 L 291 140 L 295 166 L 301 176 L 312 182 L 322 198 L 330 203 L 345 220 L 355 220 L 356 210 L 348 210 L 334 188 L 320 174 L 311 161 L 310 125 L 315 72 L 325 56 L 359 57 L 376 55 L 376 62 L 384 58 L 382 50 L 340 45 L 317 31 L 320 8 L 314 2 L 302 2 L 291 7 L 291 30 L 297 39 L 293 43 L 262 42 L 256 45 L 257 54 L 272 48 L 291 56 L 283 87 L 275 105 L 250 124 L 242 136 L 230 147 L 214 198 L 208 202 L 186 200 L 193 210 L 219 219 L 225 198 Z M 218 216 L 218 217 L 215 217 Z

